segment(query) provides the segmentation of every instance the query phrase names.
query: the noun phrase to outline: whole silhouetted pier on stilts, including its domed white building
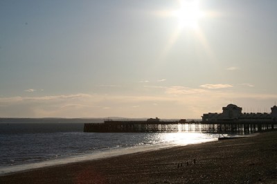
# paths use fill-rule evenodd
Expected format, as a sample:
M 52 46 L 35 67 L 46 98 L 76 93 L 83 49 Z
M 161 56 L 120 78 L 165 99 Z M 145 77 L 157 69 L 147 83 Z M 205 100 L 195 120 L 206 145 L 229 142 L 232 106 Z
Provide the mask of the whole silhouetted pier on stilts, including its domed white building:
M 277 129 L 277 107 L 271 113 L 242 113 L 235 104 L 222 107 L 222 113 L 204 113 L 202 121 L 162 121 L 150 118 L 145 121 L 107 120 L 103 123 L 86 123 L 84 132 L 211 132 L 253 133 Z

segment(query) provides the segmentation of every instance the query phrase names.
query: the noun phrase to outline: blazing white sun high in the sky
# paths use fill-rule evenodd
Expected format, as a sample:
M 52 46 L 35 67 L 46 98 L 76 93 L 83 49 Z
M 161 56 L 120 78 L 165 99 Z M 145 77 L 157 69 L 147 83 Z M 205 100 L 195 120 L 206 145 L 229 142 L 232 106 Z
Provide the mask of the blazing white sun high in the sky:
M 172 12 L 174 17 L 179 20 L 179 28 L 198 28 L 198 21 L 204 16 L 204 13 L 199 9 L 199 1 L 184 0 L 179 1 L 180 8 Z

